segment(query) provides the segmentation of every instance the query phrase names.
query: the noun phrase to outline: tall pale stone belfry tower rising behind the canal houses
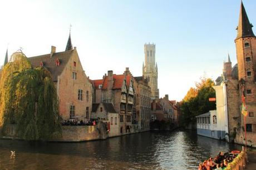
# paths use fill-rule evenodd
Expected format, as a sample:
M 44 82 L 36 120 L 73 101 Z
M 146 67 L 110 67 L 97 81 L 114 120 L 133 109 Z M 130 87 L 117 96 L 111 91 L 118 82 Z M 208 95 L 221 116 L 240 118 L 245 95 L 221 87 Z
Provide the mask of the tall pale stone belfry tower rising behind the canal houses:
M 155 62 L 156 46 L 152 44 L 144 44 L 145 66 L 142 66 L 142 75 L 147 79 L 151 88 L 151 98 L 159 98 L 159 89 L 157 88 L 157 63 Z

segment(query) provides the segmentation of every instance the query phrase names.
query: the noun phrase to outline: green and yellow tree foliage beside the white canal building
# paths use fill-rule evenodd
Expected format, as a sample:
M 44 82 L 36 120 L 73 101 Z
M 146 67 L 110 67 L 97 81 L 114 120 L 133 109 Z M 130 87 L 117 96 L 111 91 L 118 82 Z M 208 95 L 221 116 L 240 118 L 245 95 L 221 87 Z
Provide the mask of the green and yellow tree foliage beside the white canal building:
M 215 102 L 209 98 L 215 97 L 214 82 L 210 78 L 203 78 L 196 83 L 196 88 L 190 88 L 181 104 L 181 126 L 196 122 L 196 116 L 216 109 Z

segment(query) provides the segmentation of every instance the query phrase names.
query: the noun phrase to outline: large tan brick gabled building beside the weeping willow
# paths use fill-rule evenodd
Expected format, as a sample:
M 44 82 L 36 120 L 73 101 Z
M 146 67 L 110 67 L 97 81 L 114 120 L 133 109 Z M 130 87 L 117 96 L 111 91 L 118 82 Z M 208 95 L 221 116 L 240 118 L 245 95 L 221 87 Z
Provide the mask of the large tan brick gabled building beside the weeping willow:
M 82 68 L 76 47 L 72 47 L 71 36 L 65 51 L 56 52 L 56 47 L 52 46 L 50 53 L 28 60 L 32 67 L 45 67 L 51 72 L 63 120 L 90 120 L 92 85 Z

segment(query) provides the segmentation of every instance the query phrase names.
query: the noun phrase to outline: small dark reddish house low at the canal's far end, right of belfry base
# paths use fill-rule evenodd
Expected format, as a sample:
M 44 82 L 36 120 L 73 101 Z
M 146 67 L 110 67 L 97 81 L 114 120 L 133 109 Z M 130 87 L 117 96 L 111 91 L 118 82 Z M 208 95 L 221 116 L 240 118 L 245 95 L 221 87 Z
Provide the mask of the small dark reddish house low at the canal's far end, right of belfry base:
M 164 113 L 163 106 L 157 99 L 151 102 L 151 121 L 166 121 L 167 114 Z

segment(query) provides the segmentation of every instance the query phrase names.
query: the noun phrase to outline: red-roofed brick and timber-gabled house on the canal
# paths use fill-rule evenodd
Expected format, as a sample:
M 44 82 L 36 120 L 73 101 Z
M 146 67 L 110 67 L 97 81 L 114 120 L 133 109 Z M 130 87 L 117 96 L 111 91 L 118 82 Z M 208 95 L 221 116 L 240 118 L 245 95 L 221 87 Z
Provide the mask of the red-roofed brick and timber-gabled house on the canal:
M 119 133 L 125 134 L 138 129 L 138 124 L 132 126 L 132 117 L 136 117 L 134 108 L 134 84 L 129 68 L 124 74 L 113 74 L 108 71 L 102 80 L 92 81 L 95 103 L 112 103 L 119 113 Z

